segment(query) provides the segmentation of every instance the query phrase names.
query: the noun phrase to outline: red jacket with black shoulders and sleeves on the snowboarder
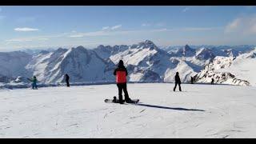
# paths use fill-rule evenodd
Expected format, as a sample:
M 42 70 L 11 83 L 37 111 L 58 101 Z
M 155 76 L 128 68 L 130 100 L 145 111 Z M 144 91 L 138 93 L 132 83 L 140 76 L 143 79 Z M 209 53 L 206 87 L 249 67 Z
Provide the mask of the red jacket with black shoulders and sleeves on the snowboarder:
M 117 83 L 126 83 L 127 74 L 127 70 L 124 66 L 118 66 L 118 68 L 114 70 Z

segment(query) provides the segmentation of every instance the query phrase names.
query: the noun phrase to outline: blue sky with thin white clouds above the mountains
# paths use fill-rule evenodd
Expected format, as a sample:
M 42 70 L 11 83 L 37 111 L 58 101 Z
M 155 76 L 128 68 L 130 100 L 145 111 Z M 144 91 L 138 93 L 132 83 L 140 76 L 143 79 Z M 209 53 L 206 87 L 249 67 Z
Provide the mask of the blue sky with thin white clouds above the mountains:
M 256 44 L 255 6 L 0 6 L 0 51 Z

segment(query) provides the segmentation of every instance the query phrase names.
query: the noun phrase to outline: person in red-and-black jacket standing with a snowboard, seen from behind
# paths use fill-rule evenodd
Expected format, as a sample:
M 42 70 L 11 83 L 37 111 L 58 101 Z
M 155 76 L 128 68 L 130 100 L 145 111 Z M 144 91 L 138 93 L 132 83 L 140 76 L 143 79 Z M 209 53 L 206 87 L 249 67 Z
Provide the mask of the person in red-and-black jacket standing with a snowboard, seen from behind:
M 118 86 L 118 100 L 120 104 L 123 104 L 122 100 L 122 90 L 125 93 L 125 102 L 130 103 L 132 100 L 129 98 L 126 86 L 126 76 L 128 75 L 126 67 L 123 65 L 122 60 L 118 63 L 118 68 L 114 70 L 114 75 L 116 76 L 116 82 Z

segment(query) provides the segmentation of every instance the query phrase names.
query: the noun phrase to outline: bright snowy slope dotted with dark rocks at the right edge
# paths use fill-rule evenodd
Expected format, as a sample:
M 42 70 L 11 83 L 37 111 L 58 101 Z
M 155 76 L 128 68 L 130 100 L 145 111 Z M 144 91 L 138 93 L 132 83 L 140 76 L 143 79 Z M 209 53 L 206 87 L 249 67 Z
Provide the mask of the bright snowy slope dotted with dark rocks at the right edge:
M 215 57 L 213 62 L 195 76 L 195 79 L 196 82 L 211 82 L 211 78 L 214 78 L 217 83 L 255 86 L 255 64 L 255 50 L 241 54 L 237 58 Z

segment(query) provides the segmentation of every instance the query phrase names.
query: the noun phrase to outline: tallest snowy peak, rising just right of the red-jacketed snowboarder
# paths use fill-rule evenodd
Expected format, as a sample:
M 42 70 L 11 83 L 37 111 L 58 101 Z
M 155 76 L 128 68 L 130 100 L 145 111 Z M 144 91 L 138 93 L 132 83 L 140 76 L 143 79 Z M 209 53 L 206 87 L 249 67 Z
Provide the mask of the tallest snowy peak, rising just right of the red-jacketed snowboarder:
M 129 71 L 131 82 L 162 81 L 161 75 L 166 66 L 171 66 L 170 56 L 166 51 L 158 49 L 153 42 L 146 40 L 138 45 L 130 46 L 129 49 L 110 56 L 110 59 L 117 64 L 123 60 Z M 157 69 L 156 69 L 157 67 Z

